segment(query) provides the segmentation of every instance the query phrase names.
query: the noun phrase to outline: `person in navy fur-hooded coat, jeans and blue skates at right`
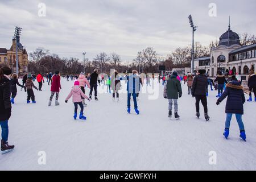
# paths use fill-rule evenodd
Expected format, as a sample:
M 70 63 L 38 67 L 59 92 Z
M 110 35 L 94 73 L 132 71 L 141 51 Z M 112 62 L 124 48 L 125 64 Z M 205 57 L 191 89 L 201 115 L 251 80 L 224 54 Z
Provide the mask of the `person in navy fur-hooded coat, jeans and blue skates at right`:
M 238 81 L 231 81 L 226 85 L 224 93 L 218 98 L 216 104 L 220 103 L 228 97 L 226 101 L 226 122 L 224 136 L 229 137 L 229 127 L 232 115 L 236 114 L 236 119 L 240 128 L 240 137 L 246 141 L 245 126 L 243 125 L 243 104 L 245 104 L 245 94 L 243 93 L 243 86 Z

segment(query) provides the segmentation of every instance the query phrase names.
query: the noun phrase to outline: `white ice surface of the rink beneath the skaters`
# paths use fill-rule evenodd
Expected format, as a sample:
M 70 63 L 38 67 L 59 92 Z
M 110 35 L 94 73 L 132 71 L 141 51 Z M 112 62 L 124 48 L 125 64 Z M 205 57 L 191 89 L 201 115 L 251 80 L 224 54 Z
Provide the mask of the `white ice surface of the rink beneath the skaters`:
M 62 79 L 61 83 L 60 106 L 47 106 L 47 84 L 43 92 L 35 90 L 35 105 L 26 104 L 26 93 L 18 89 L 9 121 L 9 142 L 15 150 L 0 156 L 1 170 L 256 169 L 255 102 L 244 106 L 247 142 L 243 142 L 235 117 L 230 138 L 224 139 L 226 101 L 216 106 L 216 91 L 208 98 L 209 122 L 203 117 L 203 106 L 201 119 L 196 118 L 195 99 L 188 96 L 186 85 L 179 99 L 179 121 L 168 118 L 168 101 L 163 86 L 157 85 L 157 100 L 140 95 L 139 115 L 134 110 L 126 113 L 127 94 L 121 94 L 117 103 L 103 93 L 98 95 L 100 101 L 85 107 L 88 119 L 82 122 L 73 120 L 72 100 L 64 102 L 73 82 Z M 39 165 L 39 151 L 46 152 L 46 165 Z M 209 164 L 210 151 L 217 154 L 216 165 Z

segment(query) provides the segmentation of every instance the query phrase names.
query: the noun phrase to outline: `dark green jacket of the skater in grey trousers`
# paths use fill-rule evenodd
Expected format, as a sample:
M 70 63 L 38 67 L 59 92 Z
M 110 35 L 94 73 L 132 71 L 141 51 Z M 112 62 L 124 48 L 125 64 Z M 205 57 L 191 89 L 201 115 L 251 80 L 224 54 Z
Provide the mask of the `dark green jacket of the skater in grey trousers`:
M 168 99 L 177 99 L 179 95 L 182 95 L 182 89 L 180 81 L 176 78 L 176 76 L 171 76 L 168 79 L 166 86 L 164 86 L 164 97 Z

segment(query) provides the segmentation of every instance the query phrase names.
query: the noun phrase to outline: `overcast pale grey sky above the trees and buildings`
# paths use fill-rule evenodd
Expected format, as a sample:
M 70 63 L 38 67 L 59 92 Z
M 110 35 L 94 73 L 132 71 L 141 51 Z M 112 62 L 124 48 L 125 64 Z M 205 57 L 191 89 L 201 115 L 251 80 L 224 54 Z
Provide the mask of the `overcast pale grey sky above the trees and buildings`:
M 46 16 L 38 16 L 45 3 Z M 216 3 L 217 16 L 208 7 Z M 37 47 L 60 57 L 93 57 L 116 52 L 131 61 L 146 47 L 166 56 L 191 44 L 188 15 L 197 26 L 195 39 L 203 45 L 231 27 L 238 34 L 256 34 L 255 0 L 0 0 L 0 47 L 10 48 L 15 26 L 22 27 L 20 42 L 28 52 Z

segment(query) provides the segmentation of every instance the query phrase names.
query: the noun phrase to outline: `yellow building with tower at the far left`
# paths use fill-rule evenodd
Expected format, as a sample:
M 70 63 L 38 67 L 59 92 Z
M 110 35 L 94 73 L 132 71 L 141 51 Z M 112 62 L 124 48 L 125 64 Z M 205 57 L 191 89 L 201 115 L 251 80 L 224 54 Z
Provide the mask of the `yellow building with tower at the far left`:
M 26 49 L 17 39 L 18 44 L 18 67 L 19 73 L 26 73 L 28 71 L 28 55 Z M 13 44 L 10 49 L 0 48 L 0 67 L 9 65 L 9 67 L 16 72 L 16 40 L 13 39 Z

